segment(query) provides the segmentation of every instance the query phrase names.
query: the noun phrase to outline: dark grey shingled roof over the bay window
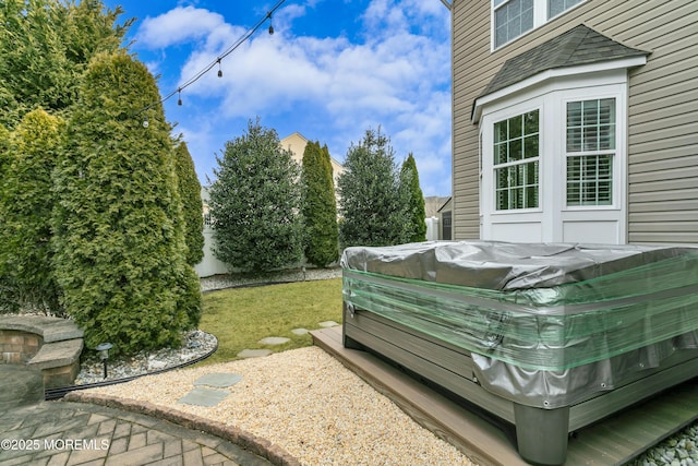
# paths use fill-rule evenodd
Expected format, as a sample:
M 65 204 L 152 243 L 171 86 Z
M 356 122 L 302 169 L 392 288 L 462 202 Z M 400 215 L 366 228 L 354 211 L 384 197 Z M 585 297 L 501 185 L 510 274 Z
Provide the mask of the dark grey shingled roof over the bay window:
M 648 51 L 630 48 L 580 24 L 524 53 L 508 59 L 480 97 L 516 84 L 542 71 L 622 58 Z

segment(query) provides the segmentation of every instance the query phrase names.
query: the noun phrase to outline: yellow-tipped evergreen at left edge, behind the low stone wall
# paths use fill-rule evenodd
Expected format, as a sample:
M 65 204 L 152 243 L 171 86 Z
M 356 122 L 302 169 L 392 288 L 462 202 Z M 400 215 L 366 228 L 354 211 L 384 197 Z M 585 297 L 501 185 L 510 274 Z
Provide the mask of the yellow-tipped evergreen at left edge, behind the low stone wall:
M 62 122 L 38 109 L 14 131 L 12 159 L 0 192 L 0 308 L 60 313 L 53 278 L 50 217 L 51 171 Z

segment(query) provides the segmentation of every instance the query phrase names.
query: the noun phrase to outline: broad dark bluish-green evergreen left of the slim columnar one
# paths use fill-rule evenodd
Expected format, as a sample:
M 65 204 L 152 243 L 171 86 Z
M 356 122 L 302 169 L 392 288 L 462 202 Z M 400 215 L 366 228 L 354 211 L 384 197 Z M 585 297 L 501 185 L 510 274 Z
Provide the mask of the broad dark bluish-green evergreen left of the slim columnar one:
M 214 254 L 254 274 L 297 264 L 302 256 L 300 168 L 275 130 L 250 120 L 216 157 L 210 187 Z

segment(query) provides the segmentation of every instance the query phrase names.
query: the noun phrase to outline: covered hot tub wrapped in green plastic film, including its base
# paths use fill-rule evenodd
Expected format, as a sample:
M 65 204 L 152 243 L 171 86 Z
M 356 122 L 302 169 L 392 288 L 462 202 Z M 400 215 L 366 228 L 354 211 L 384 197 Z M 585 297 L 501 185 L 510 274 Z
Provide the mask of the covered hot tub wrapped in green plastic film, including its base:
M 356 247 L 344 344 L 565 462 L 570 432 L 698 375 L 698 249 L 491 241 Z

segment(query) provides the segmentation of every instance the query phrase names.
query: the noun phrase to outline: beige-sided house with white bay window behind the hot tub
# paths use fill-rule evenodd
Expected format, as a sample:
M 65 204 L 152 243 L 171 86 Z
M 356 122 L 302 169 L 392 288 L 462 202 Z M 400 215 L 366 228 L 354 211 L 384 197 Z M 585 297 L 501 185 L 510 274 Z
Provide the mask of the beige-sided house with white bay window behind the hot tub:
M 449 5 L 455 239 L 698 243 L 698 2 Z

